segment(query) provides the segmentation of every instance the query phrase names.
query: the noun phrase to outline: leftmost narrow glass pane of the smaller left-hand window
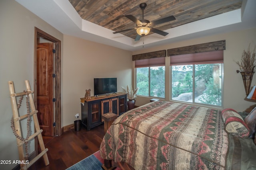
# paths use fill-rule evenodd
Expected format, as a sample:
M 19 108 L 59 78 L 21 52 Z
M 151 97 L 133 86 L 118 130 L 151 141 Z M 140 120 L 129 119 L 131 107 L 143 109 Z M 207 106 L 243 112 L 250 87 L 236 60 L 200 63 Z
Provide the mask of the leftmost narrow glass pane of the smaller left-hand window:
M 139 88 L 138 95 L 148 96 L 148 73 L 148 67 L 136 68 L 137 87 Z

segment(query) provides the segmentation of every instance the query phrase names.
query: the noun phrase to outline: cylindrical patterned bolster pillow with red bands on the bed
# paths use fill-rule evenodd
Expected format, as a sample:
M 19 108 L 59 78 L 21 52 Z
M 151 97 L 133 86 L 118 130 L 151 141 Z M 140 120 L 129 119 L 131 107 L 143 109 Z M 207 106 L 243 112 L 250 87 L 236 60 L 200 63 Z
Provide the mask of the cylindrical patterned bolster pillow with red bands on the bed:
M 222 118 L 224 122 L 224 130 L 234 137 L 245 138 L 250 135 L 249 128 L 244 122 L 241 115 L 234 109 L 222 110 Z

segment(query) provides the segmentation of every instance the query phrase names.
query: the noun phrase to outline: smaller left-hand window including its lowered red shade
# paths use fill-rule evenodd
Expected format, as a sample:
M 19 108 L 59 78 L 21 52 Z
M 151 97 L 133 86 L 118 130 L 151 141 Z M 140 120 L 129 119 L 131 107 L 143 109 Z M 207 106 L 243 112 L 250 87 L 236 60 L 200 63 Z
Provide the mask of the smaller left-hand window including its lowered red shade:
M 165 57 L 135 61 L 137 94 L 165 98 Z

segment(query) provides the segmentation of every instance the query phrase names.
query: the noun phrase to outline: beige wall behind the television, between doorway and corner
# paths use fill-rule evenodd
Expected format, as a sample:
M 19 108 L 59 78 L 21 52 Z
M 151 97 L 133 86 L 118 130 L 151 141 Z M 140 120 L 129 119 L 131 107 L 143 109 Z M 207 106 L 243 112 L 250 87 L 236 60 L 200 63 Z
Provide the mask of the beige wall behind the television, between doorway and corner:
M 64 35 L 63 126 L 81 118 L 80 98 L 85 90 L 94 95 L 94 78 L 116 77 L 121 86 L 132 84 L 132 52 Z

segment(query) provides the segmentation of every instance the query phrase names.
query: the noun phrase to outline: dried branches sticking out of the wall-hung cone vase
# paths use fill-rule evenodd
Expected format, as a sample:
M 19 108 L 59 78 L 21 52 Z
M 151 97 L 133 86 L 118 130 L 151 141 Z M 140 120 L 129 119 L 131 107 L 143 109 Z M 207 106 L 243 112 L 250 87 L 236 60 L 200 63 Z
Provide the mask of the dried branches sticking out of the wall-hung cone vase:
M 254 67 L 256 66 L 256 59 L 255 59 L 255 49 L 256 46 L 254 47 L 253 52 L 250 51 L 250 45 L 247 49 L 247 51 L 243 51 L 242 53 L 242 57 L 241 57 L 241 62 L 239 63 L 239 61 L 236 62 L 236 64 L 238 64 L 238 66 L 240 66 L 240 70 L 242 72 L 253 72 L 254 71 Z

